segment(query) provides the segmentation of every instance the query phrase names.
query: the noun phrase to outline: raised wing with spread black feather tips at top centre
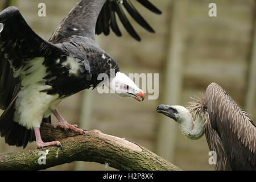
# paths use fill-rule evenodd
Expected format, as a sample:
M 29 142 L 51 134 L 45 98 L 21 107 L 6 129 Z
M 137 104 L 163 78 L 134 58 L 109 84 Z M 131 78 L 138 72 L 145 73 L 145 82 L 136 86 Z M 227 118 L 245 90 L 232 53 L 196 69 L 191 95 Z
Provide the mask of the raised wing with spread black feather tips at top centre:
M 144 7 L 156 14 L 161 14 L 148 0 L 137 0 Z M 141 40 L 133 26 L 127 19 L 123 7 L 127 12 L 146 30 L 154 32 L 150 25 L 138 13 L 130 0 L 81 0 L 63 19 L 59 27 L 49 39 L 52 43 L 63 43 L 72 35 L 84 36 L 95 39 L 95 33 L 109 35 L 110 28 L 117 36 L 121 36 L 118 28 L 116 14 L 119 16 L 123 26 L 136 40 Z

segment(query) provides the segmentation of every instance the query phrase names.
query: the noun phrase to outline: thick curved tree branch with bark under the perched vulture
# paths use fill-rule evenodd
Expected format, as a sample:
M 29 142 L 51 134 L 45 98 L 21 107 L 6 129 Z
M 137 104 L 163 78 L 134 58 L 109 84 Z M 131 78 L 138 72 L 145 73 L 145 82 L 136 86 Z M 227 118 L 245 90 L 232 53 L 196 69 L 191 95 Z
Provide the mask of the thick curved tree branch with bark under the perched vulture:
M 108 163 L 119 170 L 180 170 L 167 160 L 125 139 L 106 135 L 98 130 L 87 131 L 86 136 L 73 131 L 64 133 L 51 124 L 42 123 L 45 142 L 59 140 L 63 148 L 47 147 L 41 150 L 0 154 L 0 170 L 40 170 L 74 161 Z M 48 151 L 46 164 L 39 164 L 40 151 Z

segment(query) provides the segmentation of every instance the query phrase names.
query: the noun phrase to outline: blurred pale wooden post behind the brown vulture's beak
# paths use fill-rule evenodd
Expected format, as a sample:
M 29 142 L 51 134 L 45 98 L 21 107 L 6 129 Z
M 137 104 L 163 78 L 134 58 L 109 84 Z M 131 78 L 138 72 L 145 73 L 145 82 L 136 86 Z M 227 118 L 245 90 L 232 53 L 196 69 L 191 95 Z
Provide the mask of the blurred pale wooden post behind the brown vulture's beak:
M 180 105 L 182 92 L 183 69 L 182 53 L 184 49 L 184 24 L 186 19 L 187 0 L 172 1 L 170 10 L 170 35 L 167 48 L 164 93 L 161 104 Z M 157 154 L 168 161 L 174 160 L 177 124 L 168 117 L 160 119 Z

